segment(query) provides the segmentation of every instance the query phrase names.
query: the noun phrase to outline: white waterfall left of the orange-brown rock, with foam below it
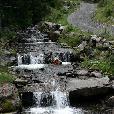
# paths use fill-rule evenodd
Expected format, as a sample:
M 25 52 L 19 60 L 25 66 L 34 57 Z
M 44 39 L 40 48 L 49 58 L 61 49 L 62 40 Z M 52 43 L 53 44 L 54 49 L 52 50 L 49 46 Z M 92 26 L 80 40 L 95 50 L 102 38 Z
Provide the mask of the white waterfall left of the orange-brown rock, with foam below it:
M 21 69 L 40 69 L 44 68 L 44 54 L 33 54 L 33 53 L 28 53 L 28 54 L 17 54 L 17 60 L 18 60 L 18 66 L 16 68 L 21 68 Z

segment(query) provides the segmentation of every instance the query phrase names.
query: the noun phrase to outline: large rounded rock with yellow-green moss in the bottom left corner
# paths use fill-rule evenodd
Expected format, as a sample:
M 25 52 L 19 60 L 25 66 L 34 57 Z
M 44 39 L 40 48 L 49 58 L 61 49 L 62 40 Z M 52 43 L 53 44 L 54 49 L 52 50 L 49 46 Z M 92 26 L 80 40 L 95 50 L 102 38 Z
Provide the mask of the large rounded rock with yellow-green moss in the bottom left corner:
M 0 87 L 0 113 L 13 112 L 20 107 L 18 90 L 13 84 L 3 84 Z

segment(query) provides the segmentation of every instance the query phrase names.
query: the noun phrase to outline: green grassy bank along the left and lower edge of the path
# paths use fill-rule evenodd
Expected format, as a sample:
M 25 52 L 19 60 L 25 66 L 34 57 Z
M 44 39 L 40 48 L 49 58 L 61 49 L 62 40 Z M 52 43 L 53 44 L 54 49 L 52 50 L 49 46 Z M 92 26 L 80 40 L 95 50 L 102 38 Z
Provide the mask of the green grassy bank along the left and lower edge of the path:
M 52 9 L 52 13 L 45 18 L 46 21 L 59 23 L 66 27 L 58 41 L 67 43 L 71 47 L 75 47 L 80 42 L 81 36 L 88 37 L 90 35 L 90 33 L 83 32 L 67 22 L 68 16 L 79 8 L 80 2 L 81 0 L 66 0 L 61 8 Z

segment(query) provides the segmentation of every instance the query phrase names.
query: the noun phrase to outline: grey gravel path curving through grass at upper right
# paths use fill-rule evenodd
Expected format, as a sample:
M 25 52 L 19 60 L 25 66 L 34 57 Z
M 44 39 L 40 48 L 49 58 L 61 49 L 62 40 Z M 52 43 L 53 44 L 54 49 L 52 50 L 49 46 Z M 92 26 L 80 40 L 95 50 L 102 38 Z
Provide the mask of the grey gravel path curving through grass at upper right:
M 69 15 L 68 22 L 73 26 L 79 27 L 83 31 L 101 34 L 109 32 L 114 34 L 114 26 L 95 22 L 92 17 L 97 9 L 97 4 L 81 3 L 80 8 Z

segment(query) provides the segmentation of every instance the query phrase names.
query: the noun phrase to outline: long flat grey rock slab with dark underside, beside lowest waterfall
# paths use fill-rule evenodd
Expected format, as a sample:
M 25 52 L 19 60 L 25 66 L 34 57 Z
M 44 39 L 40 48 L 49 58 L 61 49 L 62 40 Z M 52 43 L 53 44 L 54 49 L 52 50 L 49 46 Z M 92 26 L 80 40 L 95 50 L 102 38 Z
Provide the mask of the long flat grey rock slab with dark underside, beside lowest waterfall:
M 73 96 L 94 96 L 108 92 L 109 78 L 69 79 L 67 90 Z

